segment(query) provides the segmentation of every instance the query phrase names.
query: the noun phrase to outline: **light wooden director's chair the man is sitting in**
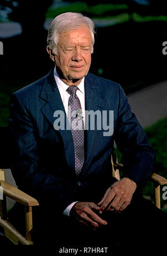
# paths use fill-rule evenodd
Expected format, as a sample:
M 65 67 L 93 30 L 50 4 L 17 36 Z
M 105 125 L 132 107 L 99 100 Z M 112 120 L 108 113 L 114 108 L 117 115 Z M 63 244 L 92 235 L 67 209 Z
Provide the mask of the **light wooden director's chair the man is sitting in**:
M 0 155 L 1 157 L 1 155 Z M 112 163 L 112 176 L 116 177 L 117 180 L 120 180 L 120 170 L 122 165 L 117 162 L 117 157 L 113 153 L 111 156 Z M 1 164 L 1 161 L 0 161 Z M 7 166 L 6 166 L 7 167 Z M 5 168 L 6 168 L 5 167 Z M 1 168 L 1 166 L 0 166 Z M 4 167 L 3 167 L 4 168 Z M 160 185 L 167 184 L 167 180 L 160 175 L 153 173 L 151 176 L 151 181 L 154 183 L 154 202 L 155 205 L 160 208 Z M 13 185 L 10 185 L 5 181 L 4 170 L 0 169 L 0 226 L 3 228 L 3 234 L 11 240 L 14 244 L 24 244 L 32 245 L 32 206 L 37 206 L 38 201 L 33 197 L 27 195 L 21 190 L 17 189 Z M 10 197 L 14 201 L 19 202 L 25 207 L 25 234 L 22 235 L 19 231 L 14 228 L 14 226 L 9 223 L 7 218 L 7 205 L 6 205 L 6 196 Z M 3 197 L 3 199 L 2 199 Z M 0 237 L 1 239 L 1 237 Z

